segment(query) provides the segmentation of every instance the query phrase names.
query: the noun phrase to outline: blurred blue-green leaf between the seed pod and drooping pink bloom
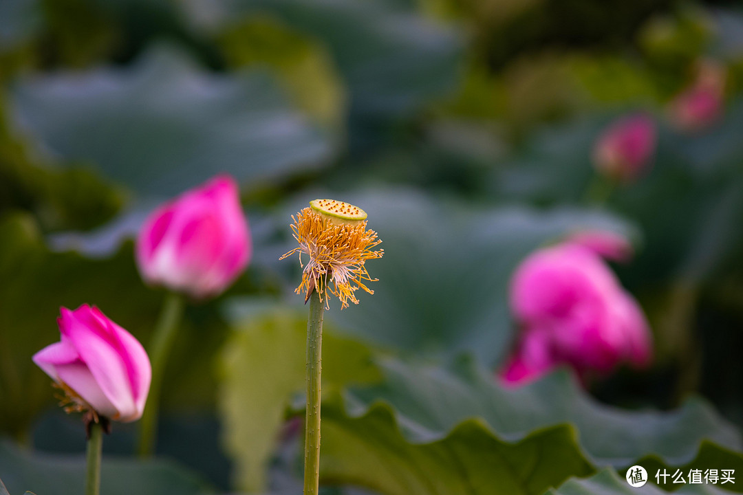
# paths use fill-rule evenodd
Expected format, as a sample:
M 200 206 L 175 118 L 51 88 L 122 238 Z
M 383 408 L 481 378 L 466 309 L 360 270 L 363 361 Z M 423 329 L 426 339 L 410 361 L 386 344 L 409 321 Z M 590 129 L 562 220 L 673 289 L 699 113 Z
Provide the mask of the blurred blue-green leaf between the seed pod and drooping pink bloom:
M 510 340 L 507 286 L 525 256 L 580 229 L 633 235 L 627 223 L 601 212 L 476 209 L 408 189 L 372 189 L 338 199 L 368 212 L 369 229 L 379 233 L 385 254 L 366 263 L 379 279 L 369 283 L 374 295 L 360 293 L 360 304 L 343 311 L 331 301 L 325 318 L 384 346 L 439 357 L 469 351 L 488 365 L 502 358 Z M 299 201 L 293 206 L 303 207 Z M 274 257 L 287 248 L 276 247 Z M 299 284 L 299 263 L 293 262 Z

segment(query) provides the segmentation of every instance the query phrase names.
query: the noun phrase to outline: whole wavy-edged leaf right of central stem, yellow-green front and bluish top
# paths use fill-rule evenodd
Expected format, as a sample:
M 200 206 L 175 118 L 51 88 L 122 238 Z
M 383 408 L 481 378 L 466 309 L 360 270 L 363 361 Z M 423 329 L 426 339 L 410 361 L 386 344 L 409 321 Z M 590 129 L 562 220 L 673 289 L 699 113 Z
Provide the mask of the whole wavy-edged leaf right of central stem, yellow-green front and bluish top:
M 380 365 L 381 384 L 322 405 L 325 482 L 385 495 L 542 494 L 594 466 L 651 465 L 648 452 L 661 468 L 715 459 L 743 469 L 743 455 L 708 440 L 740 449 L 739 433 L 700 399 L 630 412 L 598 404 L 566 372 L 510 390 L 469 358 Z

